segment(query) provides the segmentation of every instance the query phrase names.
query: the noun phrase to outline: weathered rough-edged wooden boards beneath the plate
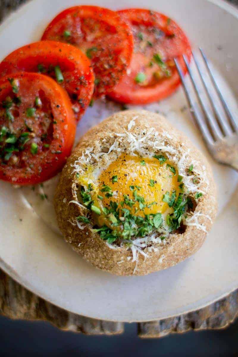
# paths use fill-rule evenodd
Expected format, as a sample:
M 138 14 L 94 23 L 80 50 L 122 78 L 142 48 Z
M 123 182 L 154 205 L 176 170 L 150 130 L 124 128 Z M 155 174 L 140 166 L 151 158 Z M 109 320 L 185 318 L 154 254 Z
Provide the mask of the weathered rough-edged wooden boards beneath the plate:
M 27 0 L 0 0 L 0 21 Z M 230 0 L 238 5 L 238 0 Z M 121 322 L 95 320 L 65 311 L 26 290 L 0 270 L 0 313 L 12 319 L 46 320 L 54 326 L 86 335 L 123 333 Z M 189 330 L 225 328 L 238 315 L 238 290 L 200 310 L 159 321 L 138 323 L 138 336 L 158 338 Z

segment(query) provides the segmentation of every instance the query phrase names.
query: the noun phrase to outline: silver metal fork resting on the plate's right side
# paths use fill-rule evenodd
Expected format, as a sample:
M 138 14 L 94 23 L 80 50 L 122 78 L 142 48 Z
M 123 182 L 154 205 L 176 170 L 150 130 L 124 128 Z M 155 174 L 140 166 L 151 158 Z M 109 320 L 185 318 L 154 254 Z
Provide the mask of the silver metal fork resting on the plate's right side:
M 194 91 L 197 95 L 202 111 L 199 110 L 198 104 L 192 99 L 191 92 L 184 79 L 183 72 L 176 58 L 174 59 L 174 62 L 176 64 L 178 74 L 182 81 L 183 89 L 189 104 L 191 114 L 202 132 L 203 139 L 210 154 L 220 164 L 228 165 L 238 171 L 238 123 L 234 119 L 231 110 L 229 109 L 226 101 L 224 100 L 224 97 L 217 85 L 217 82 L 213 75 L 213 71 L 211 69 L 211 65 L 209 64 L 206 55 L 204 54 L 201 48 L 199 50 L 202 54 L 202 58 L 205 62 L 206 69 L 208 71 L 209 77 L 211 78 L 214 89 L 216 90 L 217 95 L 221 101 L 222 107 L 224 109 L 223 114 L 222 111 L 219 111 L 217 109 L 212 92 L 208 87 L 207 81 L 205 80 L 205 77 L 202 74 L 201 67 L 194 53 L 193 59 L 197 67 L 198 74 L 201 78 L 202 84 L 204 86 L 205 92 L 208 96 L 208 100 L 211 103 L 213 113 L 207 109 L 206 104 L 199 92 L 199 87 L 196 83 L 194 72 L 191 70 L 187 57 L 183 55 L 183 60 L 188 69 L 188 75 L 190 76 Z

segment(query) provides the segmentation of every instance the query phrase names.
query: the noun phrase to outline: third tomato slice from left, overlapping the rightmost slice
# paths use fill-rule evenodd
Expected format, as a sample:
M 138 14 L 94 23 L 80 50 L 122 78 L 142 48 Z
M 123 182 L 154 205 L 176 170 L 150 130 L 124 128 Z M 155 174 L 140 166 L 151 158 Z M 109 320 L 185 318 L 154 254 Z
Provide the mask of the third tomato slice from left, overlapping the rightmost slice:
M 133 50 L 129 26 L 116 12 L 97 6 L 62 11 L 42 40 L 67 42 L 86 53 L 95 74 L 95 99 L 110 92 L 126 73 Z

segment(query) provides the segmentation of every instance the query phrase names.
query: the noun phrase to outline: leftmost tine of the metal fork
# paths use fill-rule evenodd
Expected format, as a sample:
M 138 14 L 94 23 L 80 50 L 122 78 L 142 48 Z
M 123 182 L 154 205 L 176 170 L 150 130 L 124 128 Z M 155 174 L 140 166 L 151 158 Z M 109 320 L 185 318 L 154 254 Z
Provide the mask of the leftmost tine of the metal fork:
M 209 130 L 207 128 L 207 125 L 203 121 L 203 119 L 202 119 L 201 115 L 199 114 L 197 108 L 193 105 L 192 97 L 189 94 L 188 86 L 187 86 L 186 82 L 184 81 L 183 73 L 181 71 L 181 68 L 180 68 L 176 58 L 174 58 L 174 63 L 176 65 L 179 77 L 180 77 L 182 85 L 183 85 L 183 89 L 184 89 L 184 92 L 185 92 L 185 95 L 186 95 L 186 98 L 187 98 L 187 101 L 188 101 L 188 104 L 189 104 L 190 112 L 191 112 L 194 120 L 196 121 L 199 129 L 202 132 L 203 139 L 207 142 L 208 145 L 213 145 L 214 141 L 213 141 L 213 138 L 212 138 L 212 136 L 211 136 L 211 134 L 210 134 L 210 132 L 209 132 Z

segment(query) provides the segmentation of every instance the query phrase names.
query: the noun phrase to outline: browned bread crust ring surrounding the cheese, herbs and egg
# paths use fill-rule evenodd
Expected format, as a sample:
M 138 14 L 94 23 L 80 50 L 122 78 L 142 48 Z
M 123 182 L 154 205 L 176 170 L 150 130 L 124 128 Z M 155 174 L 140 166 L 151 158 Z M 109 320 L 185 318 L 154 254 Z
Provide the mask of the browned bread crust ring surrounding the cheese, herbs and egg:
M 116 275 L 147 275 L 174 266 L 195 253 L 207 235 L 207 232 L 196 226 L 187 226 L 184 233 L 169 235 L 162 245 L 156 246 L 156 250 L 145 248 L 143 251 L 147 255 L 146 258 L 138 254 L 138 261 L 133 261 L 132 252 L 128 247 L 112 248 L 97 233 L 92 232 L 89 225 L 86 224 L 83 229 L 72 225 L 75 217 L 84 214 L 83 208 L 69 204 L 71 200 L 76 200 L 72 166 L 88 147 L 92 146 L 93 152 L 100 152 L 104 137 L 111 137 L 113 142 L 113 135 L 127 131 L 132 119 L 135 122 L 135 129 L 132 132 L 136 133 L 136 130 L 150 127 L 158 132 L 169 132 L 170 144 L 175 149 L 185 152 L 188 160 L 198 161 L 198 165 L 206 171 L 207 190 L 199 199 L 194 214 L 201 213 L 199 224 L 206 227 L 207 232 L 211 229 L 217 211 L 216 187 L 206 158 L 163 116 L 148 111 L 130 110 L 118 112 L 104 120 L 82 137 L 67 160 L 56 188 L 54 205 L 57 222 L 66 242 L 93 266 Z

